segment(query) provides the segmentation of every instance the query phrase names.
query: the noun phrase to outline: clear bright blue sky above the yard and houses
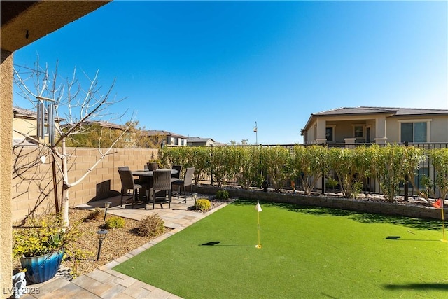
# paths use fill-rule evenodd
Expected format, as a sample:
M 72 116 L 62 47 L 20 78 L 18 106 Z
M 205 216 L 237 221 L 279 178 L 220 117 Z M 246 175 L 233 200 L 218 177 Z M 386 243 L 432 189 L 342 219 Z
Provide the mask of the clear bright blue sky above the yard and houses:
M 135 111 L 146 129 L 255 144 L 256 121 L 260 144 L 302 143 L 318 111 L 448 109 L 447 15 L 447 1 L 113 1 L 14 63 L 115 78 L 116 123 Z

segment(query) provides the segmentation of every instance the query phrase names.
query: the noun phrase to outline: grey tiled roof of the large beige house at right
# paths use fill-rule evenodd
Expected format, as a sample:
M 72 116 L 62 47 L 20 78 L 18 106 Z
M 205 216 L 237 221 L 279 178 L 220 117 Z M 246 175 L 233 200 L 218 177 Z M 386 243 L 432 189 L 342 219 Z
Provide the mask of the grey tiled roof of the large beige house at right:
M 328 111 L 321 111 L 317 113 L 311 113 L 307 121 L 307 125 L 303 130 L 307 130 L 311 120 L 314 117 L 331 117 L 331 116 L 362 116 L 370 114 L 388 114 L 390 116 L 430 116 L 430 115 L 448 115 L 447 109 L 421 109 L 421 108 L 395 108 L 395 107 L 343 107 L 337 109 L 331 109 Z

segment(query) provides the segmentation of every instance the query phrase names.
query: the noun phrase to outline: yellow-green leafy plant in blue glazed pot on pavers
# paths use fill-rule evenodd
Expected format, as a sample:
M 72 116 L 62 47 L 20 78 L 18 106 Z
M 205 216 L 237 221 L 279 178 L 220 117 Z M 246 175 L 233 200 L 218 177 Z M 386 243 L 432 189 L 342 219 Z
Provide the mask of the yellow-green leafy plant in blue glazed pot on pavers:
M 76 226 L 65 227 L 60 214 L 29 218 L 13 233 L 13 258 L 20 258 L 27 280 L 38 284 L 55 277 L 66 246 L 78 239 Z

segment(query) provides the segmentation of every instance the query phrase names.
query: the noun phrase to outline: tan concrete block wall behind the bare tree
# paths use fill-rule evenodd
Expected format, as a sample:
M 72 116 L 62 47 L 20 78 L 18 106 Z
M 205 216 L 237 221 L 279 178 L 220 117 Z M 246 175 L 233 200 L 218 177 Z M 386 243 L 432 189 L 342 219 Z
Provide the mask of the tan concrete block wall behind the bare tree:
M 106 150 L 106 148 L 100 151 L 98 148 L 67 148 L 69 183 L 81 179 L 99 161 L 80 183 L 69 189 L 71 206 L 118 194 L 121 188 L 118 167 L 129 166 L 131 170 L 144 169 L 151 155 L 154 158 L 158 157 L 158 150 L 151 148 L 115 148 L 109 155 L 102 156 Z M 45 156 L 45 163 L 41 162 L 41 156 Z M 55 210 L 51 160 L 51 155 L 45 148 L 13 148 L 11 195 L 13 221 L 20 221 L 30 213 Z M 57 162 L 60 164 L 60 160 Z M 60 199 L 62 176 L 58 176 L 58 181 L 57 193 Z

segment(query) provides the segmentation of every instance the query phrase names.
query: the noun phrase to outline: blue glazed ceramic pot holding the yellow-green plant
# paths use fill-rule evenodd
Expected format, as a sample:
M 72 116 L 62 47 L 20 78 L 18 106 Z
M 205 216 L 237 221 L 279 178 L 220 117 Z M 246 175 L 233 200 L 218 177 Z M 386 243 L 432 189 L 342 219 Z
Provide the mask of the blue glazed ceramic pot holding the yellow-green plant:
M 20 263 L 22 263 L 22 269 L 27 269 L 27 272 L 25 272 L 27 281 L 31 284 L 40 284 L 55 277 L 63 257 L 64 250 L 62 249 L 43 256 L 31 258 L 22 256 Z

